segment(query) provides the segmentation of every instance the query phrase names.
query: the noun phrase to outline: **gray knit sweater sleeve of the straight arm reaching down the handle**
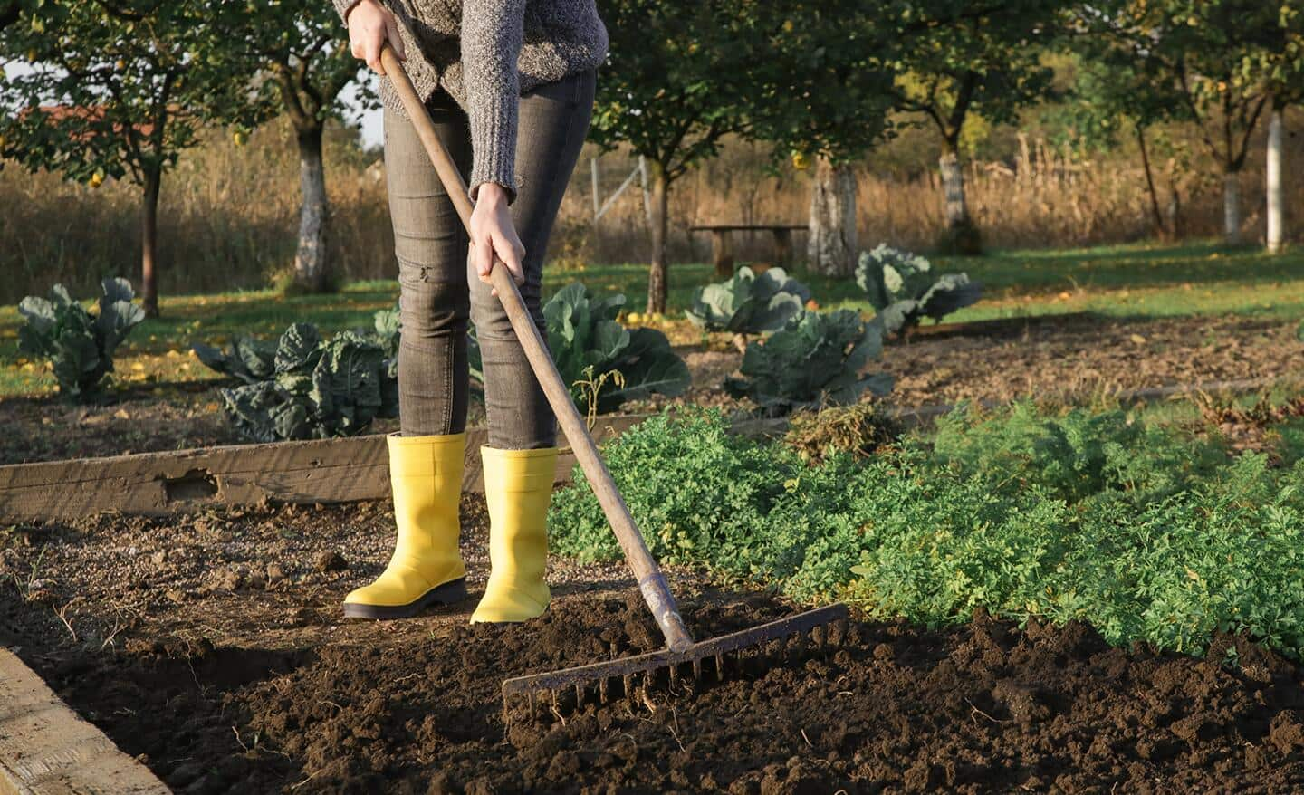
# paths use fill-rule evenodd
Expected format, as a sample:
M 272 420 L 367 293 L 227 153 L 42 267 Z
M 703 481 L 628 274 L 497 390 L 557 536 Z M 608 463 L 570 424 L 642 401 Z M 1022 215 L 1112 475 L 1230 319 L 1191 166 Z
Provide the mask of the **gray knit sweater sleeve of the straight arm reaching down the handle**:
M 335 0 L 347 3 L 347 0 Z M 526 0 L 464 0 L 462 80 L 471 120 L 471 198 L 484 182 L 516 198 L 516 63 L 526 25 Z

